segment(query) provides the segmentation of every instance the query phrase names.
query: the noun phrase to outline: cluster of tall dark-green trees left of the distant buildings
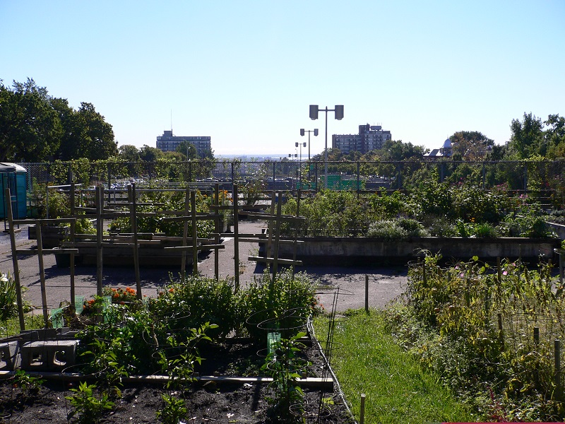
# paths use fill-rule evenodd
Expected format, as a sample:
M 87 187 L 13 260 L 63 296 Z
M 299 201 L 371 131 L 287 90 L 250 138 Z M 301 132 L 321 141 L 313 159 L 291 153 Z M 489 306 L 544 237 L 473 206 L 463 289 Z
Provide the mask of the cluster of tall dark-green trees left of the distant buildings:
M 100 160 L 116 154 L 112 126 L 92 103 L 74 110 L 31 78 L 14 81 L 12 88 L 0 81 L 0 160 Z

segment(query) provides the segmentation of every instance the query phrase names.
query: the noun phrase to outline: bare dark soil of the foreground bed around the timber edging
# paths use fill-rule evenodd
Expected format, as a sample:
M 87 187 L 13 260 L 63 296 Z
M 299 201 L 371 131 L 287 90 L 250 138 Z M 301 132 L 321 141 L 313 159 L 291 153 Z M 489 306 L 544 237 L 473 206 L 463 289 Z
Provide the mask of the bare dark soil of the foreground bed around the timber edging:
M 249 375 L 257 370 L 264 358 L 251 345 L 221 345 L 215 354 L 203 362 L 201 375 Z M 209 354 L 211 353 L 208 352 Z M 261 353 L 261 352 L 259 352 Z M 308 375 L 321 376 L 323 363 L 319 351 L 308 349 L 311 365 Z M 203 355 L 205 356 L 205 355 Z M 206 365 L 204 365 L 206 364 Z M 255 374 L 256 375 L 256 374 Z M 23 390 L 14 379 L 0 381 L 0 422 L 5 423 L 68 423 L 73 408 L 66 399 L 72 396 L 77 382 L 47 381 L 37 390 Z M 157 411 L 165 406 L 162 394 L 186 399 L 188 414 L 184 423 L 282 423 L 273 415 L 268 398 L 273 391 L 268 384 L 206 384 L 195 383 L 184 390 L 167 390 L 162 384 L 125 384 L 121 397 L 114 399 L 114 408 L 100 423 L 157 423 Z M 336 393 L 305 391 L 307 413 L 323 417 L 309 418 L 308 423 L 350 423 L 347 409 Z M 319 406 L 323 404 L 326 408 Z M 329 410 L 327 409 L 329 407 Z M 88 417 L 86 423 L 95 423 Z M 299 422 L 299 421 L 298 421 Z

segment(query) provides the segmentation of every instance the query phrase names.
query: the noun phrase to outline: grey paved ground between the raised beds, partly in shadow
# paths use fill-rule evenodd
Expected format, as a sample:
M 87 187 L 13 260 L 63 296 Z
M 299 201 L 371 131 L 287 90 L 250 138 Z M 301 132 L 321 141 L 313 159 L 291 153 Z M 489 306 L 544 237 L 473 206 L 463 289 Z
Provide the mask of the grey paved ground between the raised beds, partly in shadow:
M 243 221 L 239 223 L 239 232 L 257 233 L 261 232 L 263 223 L 256 221 Z M 28 229 L 21 226 L 21 232 L 16 234 L 18 249 L 35 246 L 35 240 L 28 240 Z M 227 237 L 224 240 L 225 249 L 218 254 L 218 263 L 221 277 L 234 276 L 234 242 Z M 263 265 L 247 260 L 250 255 L 256 255 L 258 247 L 254 243 L 239 243 L 239 281 L 244 284 L 252 281 L 263 274 Z M 62 300 L 70 300 L 71 277 L 69 269 L 59 268 L 55 264 L 54 255 L 44 255 L 44 272 L 46 281 L 47 307 L 59 307 Z M 42 305 L 39 260 L 37 256 L 18 256 L 20 269 L 20 283 L 25 290 L 24 298 L 32 305 Z M 0 272 L 13 273 L 13 261 L 11 258 L 11 245 L 8 232 L 0 232 Z M 136 286 L 135 272 L 133 266 L 108 267 L 103 269 L 103 283 L 113 288 Z M 150 269 L 141 268 L 142 293 L 155 296 L 157 290 L 170 281 L 170 273 L 173 276 L 180 269 Z M 214 253 L 203 257 L 198 261 L 198 271 L 203 276 L 214 276 Z M 335 288 L 339 288 L 339 296 L 335 301 L 338 311 L 348 308 L 364 307 L 365 278 L 369 281 L 369 306 L 382 308 L 387 302 L 396 298 L 403 292 L 407 266 L 389 268 L 373 268 L 367 264 L 366 267 L 338 267 L 328 266 L 300 266 L 295 271 L 305 271 L 313 278 L 320 281 L 322 287 L 320 298 L 323 305 L 331 306 L 334 302 Z M 91 297 L 96 293 L 96 267 L 76 266 L 76 294 Z

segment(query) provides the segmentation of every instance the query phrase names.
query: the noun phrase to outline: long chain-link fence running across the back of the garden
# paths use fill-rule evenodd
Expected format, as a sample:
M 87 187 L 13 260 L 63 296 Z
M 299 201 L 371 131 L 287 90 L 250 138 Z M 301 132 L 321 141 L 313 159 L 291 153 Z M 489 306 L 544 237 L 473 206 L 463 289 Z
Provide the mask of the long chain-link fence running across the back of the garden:
M 412 189 L 430 182 L 470 184 L 483 189 L 532 192 L 561 201 L 565 161 L 423 161 L 314 162 L 200 160 L 121 163 L 75 160 L 68 163 L 20 163 L 28 170 L 28 191 L 35 183 L 103 184 L 111 189 L 131 182 L 170 184 L 219 182 L 254 184 L 266 190 Z

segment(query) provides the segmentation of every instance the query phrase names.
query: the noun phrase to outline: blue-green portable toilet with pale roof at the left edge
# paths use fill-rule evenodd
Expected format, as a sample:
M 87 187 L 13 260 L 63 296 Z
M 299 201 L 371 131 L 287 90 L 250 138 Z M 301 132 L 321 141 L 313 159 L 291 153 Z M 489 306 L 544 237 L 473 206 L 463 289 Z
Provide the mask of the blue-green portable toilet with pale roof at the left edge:
M 12 214 L 14 219 L 25 219 L 28 215 L 28 201 L 25 192 L 28 171 L 16 163 L 0 163 L 2 201 L 0 201 L 0 218 L 7 218 L 4 192 L 10 189 Z

